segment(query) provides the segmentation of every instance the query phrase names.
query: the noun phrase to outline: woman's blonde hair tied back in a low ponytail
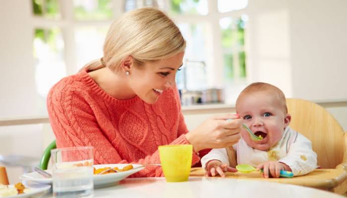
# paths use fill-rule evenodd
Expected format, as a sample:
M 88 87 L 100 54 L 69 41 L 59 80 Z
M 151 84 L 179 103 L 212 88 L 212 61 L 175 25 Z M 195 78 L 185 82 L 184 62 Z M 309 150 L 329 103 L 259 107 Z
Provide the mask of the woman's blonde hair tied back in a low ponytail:
M 81 70 L 103 67 L 119 70 L 123 58 L 131 55 L 135 65 L 170 58 L 185 49 L 185 40 L 173 21 L 156 8 L 140 8 L 124 13 L 112 23 L 104 43 L 104 57 Z

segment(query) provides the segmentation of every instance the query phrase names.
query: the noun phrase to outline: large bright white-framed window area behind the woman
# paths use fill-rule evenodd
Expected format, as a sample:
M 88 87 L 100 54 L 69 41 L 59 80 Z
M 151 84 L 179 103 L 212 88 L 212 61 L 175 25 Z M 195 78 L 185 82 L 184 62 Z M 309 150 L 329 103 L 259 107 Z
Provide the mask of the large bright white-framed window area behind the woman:
M 187 41 L 183 68 L 176 76 L 179 89 L 237 90 L 235 86 L 244 86 L 247 79 L 247 16 L 238 15 L 247 4 L 248 0 L 32 0 L 35 82 L 43 103 L 40 112 L 46 114 L 45 97 L 53 84 L 102 57 L 113 20 L 145 6 L 169 14 Z

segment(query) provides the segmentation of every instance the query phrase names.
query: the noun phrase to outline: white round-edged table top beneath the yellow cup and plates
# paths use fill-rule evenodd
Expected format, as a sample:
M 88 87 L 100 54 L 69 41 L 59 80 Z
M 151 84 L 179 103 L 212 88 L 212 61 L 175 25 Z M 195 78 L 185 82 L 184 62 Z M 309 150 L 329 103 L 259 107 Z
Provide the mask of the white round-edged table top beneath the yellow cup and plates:
M 44 196 L 52 198 L 52 193 Z M 96 189 L 94 198 L 343 198 L 337 194 L 289 184 L 190 177 L 167 183 L 165 178 L 130 178 L 119 185 Z

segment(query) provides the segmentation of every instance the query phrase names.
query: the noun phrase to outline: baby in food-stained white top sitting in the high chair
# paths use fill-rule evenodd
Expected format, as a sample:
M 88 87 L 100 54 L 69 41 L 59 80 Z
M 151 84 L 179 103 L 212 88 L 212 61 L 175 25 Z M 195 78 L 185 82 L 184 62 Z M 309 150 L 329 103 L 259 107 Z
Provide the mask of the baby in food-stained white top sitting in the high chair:
M 212 149 L 202 157 L 207 176 L 236 172 L 237 164 L 250 164 L 263 169 L 263 177 L 280 177 L 280 171 L 294 176 L 305 175 L 317 168 L 317 154 L 311 142 L 288 125 L 290 115 L 286 97 L 277 87 L 267 83 L 253 83 L 236 100 L 236 113 L 261 141 L 250 139 L 242 129 L 241 139 L 232 148 Z

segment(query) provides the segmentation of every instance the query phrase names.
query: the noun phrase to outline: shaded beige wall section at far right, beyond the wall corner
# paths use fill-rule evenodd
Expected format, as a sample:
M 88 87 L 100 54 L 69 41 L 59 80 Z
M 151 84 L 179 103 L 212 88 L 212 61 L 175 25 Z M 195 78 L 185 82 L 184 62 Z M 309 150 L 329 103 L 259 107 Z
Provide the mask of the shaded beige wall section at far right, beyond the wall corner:
M 293 97 L 347 99 L 347 1 L 290 0 Z

